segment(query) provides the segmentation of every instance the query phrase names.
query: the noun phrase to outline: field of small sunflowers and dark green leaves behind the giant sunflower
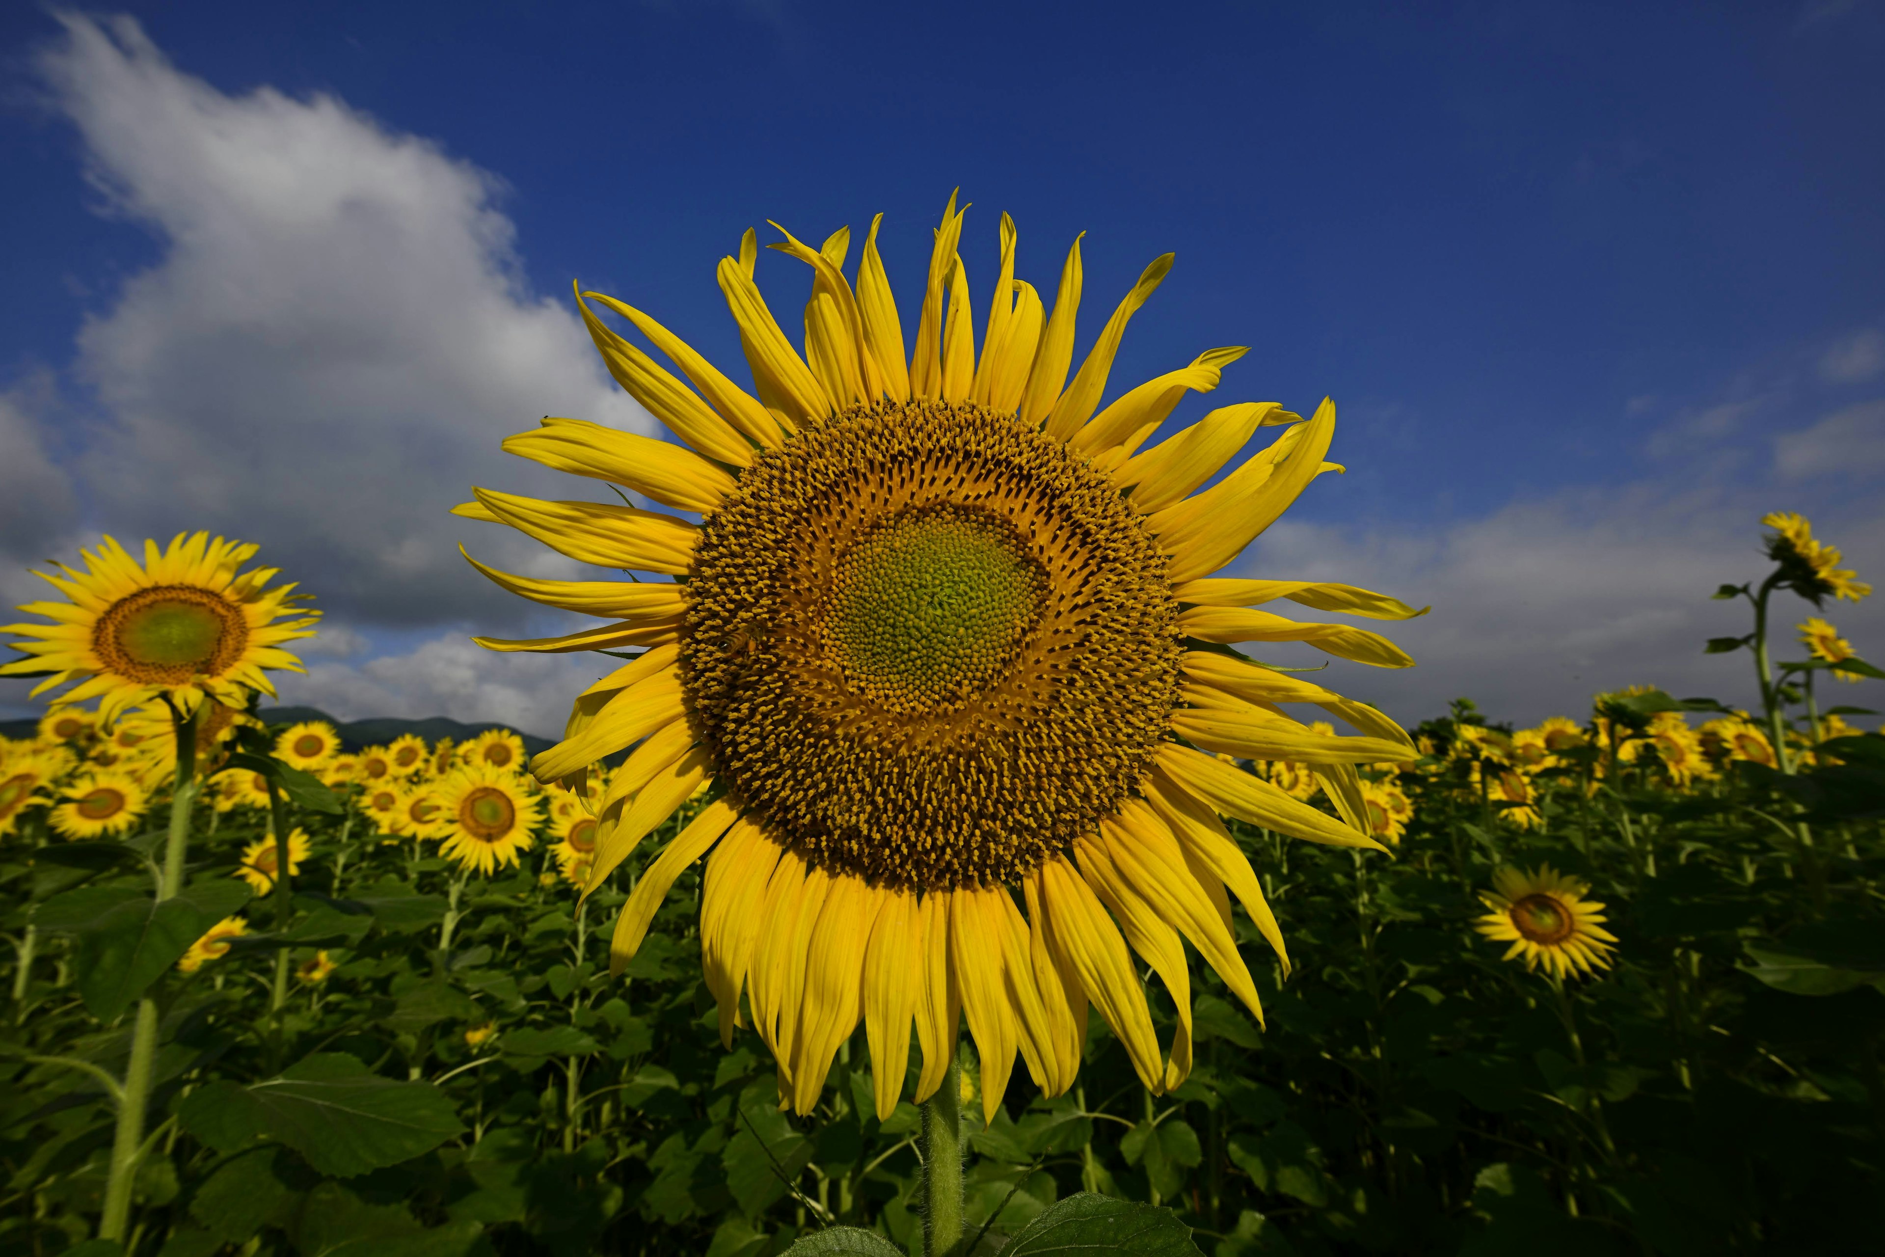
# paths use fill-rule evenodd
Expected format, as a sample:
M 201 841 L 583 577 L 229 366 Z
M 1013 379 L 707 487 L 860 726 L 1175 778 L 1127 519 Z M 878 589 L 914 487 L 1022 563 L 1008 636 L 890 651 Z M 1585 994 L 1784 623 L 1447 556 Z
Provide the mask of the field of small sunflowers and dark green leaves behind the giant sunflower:
M 1802 629 L 1783 703 L 1876 677 Z M 515 735 L 349 748 L 217 710 L 170 910 L 166 712 L 55 707 L 0 748 L 6 1251 L 119 1251 L 89 1236 L 151 993 L 126 1251 L 760 1257 L 828 1227 L 922 1251 L 918 1110 L 878 1118 L 861 1031 L 805 1116 L 752 1031 L 722 1048 L 697 871 L 611 978 L 641 861 L 577 906 L 596 820 Z M 967 1251 L 1076 1193 L 1221 1257 L 1868 1248 L 1885 739 L 1855 714 L 1789 720 L 1781 773 L 1764 722 L 1706 699 L 1636 688 L 1531 729 L 1459 701 L 1363 773 L 1393 859 L 1233 822 L 1289 939 L 1287 976 L 1252 965 L 1265 1023 L 1206 969 L 1188 1003 L 1154 988 L 1159 1037 L 1195 1042 L 1165 1095 L 1099 1018 L 1065 1095 L 1016 1074 L 990 1102 L 963 1070 Z M 1320 797 L 1303 765 L 1257 771 Z

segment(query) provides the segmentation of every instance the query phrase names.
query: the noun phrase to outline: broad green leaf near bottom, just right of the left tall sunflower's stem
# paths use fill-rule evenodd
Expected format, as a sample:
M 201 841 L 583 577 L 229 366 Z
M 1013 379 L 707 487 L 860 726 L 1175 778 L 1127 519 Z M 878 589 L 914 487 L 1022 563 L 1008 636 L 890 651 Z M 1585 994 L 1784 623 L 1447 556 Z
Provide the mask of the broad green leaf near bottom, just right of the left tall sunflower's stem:
M 432 1151 L 464 1125 L 430 1082 L 394 1082 L 324 1052 L 251 1087 L 213 1082 L 177 1108 L 185 1129 L 219 1151 L 277 1138 L 322 1174 L 352 1178 Z

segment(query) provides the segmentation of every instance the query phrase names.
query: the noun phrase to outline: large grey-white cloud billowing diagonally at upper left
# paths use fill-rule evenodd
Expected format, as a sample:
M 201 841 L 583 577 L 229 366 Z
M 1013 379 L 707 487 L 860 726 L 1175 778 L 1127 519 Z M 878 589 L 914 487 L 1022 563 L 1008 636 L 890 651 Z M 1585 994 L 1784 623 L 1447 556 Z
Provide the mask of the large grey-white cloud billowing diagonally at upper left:
M 258 541 L 349 618 L 515 624 L 452 543 L 537 571 L 541 548 L 451 505 L 471 482 L 549 488 L 496 449 L 541 415 L 652 420 L 528 290 L 498 181 L 332 96 L 224 94 L 130 19 L 58 21 L 40 68 L 104 207 L 164 241 L 79 337 L 106 415 L 77 462 L 98 524 Z

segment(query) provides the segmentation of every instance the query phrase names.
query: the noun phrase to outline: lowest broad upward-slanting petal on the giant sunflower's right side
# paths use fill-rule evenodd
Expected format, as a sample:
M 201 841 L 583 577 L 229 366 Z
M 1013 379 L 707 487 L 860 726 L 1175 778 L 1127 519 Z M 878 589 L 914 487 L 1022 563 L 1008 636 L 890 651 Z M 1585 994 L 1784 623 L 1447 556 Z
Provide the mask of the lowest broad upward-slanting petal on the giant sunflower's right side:
M 1208 577 L 1242 554 L 1316 479 L 1333 435 L 1335 403 L 1323 400 L 1314 418 L 1284 430 L 1272 460 L 1255 454 L 1203 494 L 1150 516 L 1146 526 L 1172 556 L 1167 579 Z

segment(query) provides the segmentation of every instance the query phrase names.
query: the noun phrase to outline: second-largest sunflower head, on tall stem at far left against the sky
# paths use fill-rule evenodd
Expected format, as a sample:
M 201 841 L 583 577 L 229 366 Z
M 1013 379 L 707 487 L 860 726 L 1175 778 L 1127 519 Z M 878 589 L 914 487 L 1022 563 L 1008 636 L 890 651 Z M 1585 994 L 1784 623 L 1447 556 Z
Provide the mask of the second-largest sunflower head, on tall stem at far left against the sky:
M 66 601 L 26 603 L 21 611 L 51 624 L 13 624 L 13 648 L 30 656 L 0 675 L 49 673 L 34 694 L 79 682 L 60 701 L 100 699 L 109 724 L 126 707 L 168 695 L 185 710 L 202 697 L 247 707 L 249 692 L 273 694 L 268 669 L 302 671 L 283 643 L 313 637 L 319 612 L 307 611 L 292 584 L 266 588 L 273 567 L 238 571 L 256 547 L 177 537 L 160 550 L 143 543 L 143 565 L 115 539 L 98 552 L 81 550 L 85 571 L 58 563 L 58 575 L 34 573 Z

